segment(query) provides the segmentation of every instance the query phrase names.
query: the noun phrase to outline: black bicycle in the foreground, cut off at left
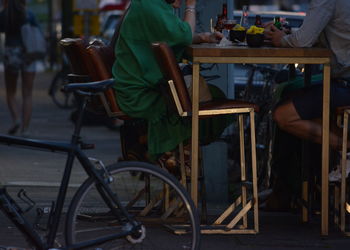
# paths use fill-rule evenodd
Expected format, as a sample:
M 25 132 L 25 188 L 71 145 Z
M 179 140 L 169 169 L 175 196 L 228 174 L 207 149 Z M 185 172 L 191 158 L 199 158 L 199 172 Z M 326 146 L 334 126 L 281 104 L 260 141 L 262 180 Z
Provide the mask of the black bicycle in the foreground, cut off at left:
M 105 91 L 113 79 L 68 84 L 64 89 L 79 100 L 79 118 L 70 142 L 57 142 L 0 135 L 0 143 L 67 155 L 61 186 L 52 204 L 46 228 L 30 224 L 25 213 L 34 202 L 22 192 L 29 207 L 21 208 L 0 186 L 0 209 L 23 233 L 30 246 L 47 249 L 199 249 L 197 210 L 178 180 L 158 166 L 145 162 L 118 162 L 104 166 L 88 158 L 92 148 L 80 137 L 88 99 Z M 56 242 L 73 161 L 77 158 L 88 174 L 70 202 L 65 223 L 65 246 Z M 21 193 L 21 192 L 20 192 Z M 19 195 L 20 195 L 19 193 Z M 21 196 L 21 195 L 20 195 Z M 37 220 L 36 220 L 37 221 Z M 38 231 L 44 230 L 44 235 Z

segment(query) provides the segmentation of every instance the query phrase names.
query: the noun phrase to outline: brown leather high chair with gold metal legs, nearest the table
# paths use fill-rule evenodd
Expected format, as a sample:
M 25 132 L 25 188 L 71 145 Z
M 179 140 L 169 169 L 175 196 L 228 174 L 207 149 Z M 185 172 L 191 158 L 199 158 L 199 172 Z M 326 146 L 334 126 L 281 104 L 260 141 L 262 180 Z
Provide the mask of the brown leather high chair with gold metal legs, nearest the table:
M 163 73 L 164 80 L 169 84 L 169 91 L 172 96 L 172 105 L 176 107 L 181 117 L 191 115 L 192 102 L 187 91 L 187 87 L 177 64 L 171 48 L 163 42 L 153 43 L 155 57 Z M 199 106 L 199 118 L 208 118 L 216 115 L 235 114 L 238 115 L 239 133 L 240 133 L 240 154 L 241 154 L 241 195 L 225 210 L 210 226 L 210 229 L 202 230 L 202 233 L 257 233 L 258 224 L 258 190 L 257 190 L 257 170 L 256 170 L 256 153 L 255 153 L 255 125 L 254 112 L 259 107 L 253 103 L 238 100 L 217 100 L 201 103 Z M 250 118 L 250 137 L 251 137 L 251 162 L 252 162 L 252 198 L 248 199 L 247 187 L 247 170 L 245 165 L 245 146 L 244 146 L 244 126 L 243 115 L 249 115 Z M 241 206 L 240 211 L 236 209 Z M 253 228 L 248 229 L 247 213 L 250 210 L 253 213 Z M 232 214 L 237 212 L 234 218 Z M 237 229 L 238 222 L 242 224 Z M 227 222 L 228 221 L 228 222 Z M 227 223 L 226 223 L 227 222 Z

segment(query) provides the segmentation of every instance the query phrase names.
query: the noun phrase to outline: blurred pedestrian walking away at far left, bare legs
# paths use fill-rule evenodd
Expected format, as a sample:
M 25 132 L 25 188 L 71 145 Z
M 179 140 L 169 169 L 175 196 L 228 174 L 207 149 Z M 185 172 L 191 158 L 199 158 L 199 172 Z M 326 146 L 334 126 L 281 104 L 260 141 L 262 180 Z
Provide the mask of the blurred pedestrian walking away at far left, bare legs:
M 32 116 L 35 61 L 26 57 L 21 37 L 21 27 L 28 22 L 38 26 L 35 16 L 26 8 L 26 0 L 4 0 L 4 9 L 0 12 L 0 32 L 5 33 L 5 86 L 12 117 L 12 126 L 8 130 L 11 135 L 20 132 L 20 135 L 27 136 Z M 22 79 L 22 112 L 16 100 L 19 75 Z

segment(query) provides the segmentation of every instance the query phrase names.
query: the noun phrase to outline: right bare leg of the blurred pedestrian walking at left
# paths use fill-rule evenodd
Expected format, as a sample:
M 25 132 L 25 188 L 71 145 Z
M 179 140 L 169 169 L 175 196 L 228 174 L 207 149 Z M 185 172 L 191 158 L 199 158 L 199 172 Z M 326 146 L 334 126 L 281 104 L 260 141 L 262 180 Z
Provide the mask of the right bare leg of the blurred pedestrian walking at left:
M 22 133 L 25 133 L 28 130 L 32 117 L 32 93 L 34 78 L 35 72 L 22 71 Z

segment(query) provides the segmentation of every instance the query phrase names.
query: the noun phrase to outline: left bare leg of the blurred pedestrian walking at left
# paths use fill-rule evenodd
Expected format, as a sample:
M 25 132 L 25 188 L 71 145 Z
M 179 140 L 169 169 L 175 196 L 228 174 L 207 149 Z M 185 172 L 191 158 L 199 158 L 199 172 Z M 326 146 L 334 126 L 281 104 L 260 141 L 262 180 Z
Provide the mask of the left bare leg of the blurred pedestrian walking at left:
M 12 118 L 10 134 L 15 134 L 19 128 L 19 109 L 16 101 L 18 73 L 5 68 L 6 101 Z

